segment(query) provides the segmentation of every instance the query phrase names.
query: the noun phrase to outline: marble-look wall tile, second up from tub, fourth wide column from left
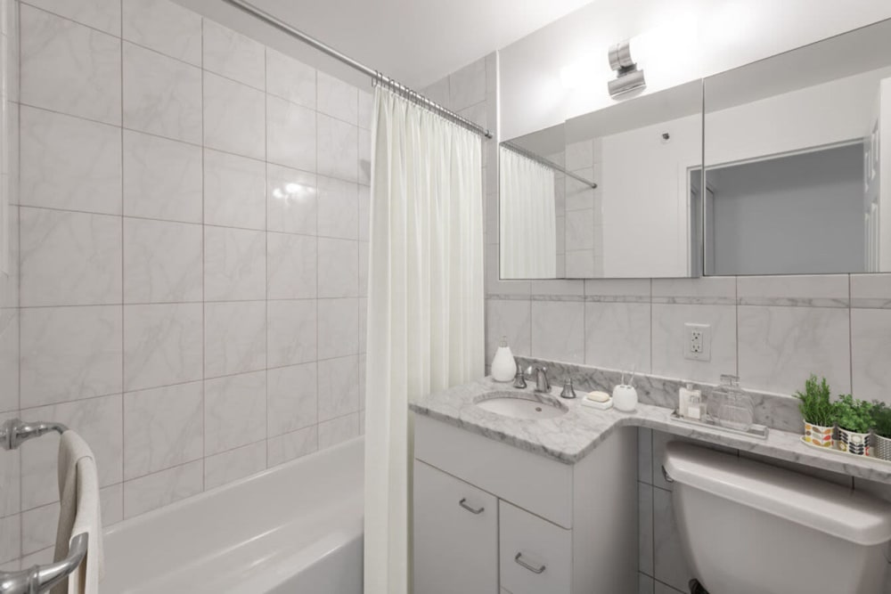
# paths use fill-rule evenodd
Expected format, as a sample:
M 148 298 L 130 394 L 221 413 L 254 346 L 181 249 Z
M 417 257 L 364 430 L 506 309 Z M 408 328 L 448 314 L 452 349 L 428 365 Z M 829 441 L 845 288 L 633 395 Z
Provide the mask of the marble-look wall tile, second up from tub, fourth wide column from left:
M 319 420 L 319 382 L 315 362 L 268 370 L 266 382 L 267 435 L 272 437 L 315 426 Z

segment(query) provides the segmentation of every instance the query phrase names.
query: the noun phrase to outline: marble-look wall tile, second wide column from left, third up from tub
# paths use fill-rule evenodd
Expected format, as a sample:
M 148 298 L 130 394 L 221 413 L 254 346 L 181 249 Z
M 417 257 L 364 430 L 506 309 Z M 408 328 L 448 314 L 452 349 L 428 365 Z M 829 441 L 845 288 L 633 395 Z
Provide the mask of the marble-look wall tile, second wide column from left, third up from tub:
M 201 378 L 201 304 L 124 306 L 124 387 Z

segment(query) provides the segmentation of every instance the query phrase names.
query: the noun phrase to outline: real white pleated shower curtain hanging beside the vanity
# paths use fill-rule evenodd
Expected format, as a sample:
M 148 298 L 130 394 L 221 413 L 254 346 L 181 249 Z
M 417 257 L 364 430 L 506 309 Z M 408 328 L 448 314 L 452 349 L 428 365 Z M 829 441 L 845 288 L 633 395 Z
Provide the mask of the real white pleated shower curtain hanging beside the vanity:
M 365 594 L 411 591 L 408 403 L 484 375 L 480 138 L 375 92 L 365 381 Z

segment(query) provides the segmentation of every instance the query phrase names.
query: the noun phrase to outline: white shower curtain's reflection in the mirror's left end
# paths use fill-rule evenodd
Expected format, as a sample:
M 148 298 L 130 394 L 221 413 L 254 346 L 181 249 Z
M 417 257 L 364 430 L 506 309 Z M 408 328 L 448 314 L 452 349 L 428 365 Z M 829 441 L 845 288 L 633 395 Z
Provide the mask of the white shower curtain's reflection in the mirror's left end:
M 503 279 L 557 278 L 557 204 L 551 167 L 501 151 L 499 197 Z

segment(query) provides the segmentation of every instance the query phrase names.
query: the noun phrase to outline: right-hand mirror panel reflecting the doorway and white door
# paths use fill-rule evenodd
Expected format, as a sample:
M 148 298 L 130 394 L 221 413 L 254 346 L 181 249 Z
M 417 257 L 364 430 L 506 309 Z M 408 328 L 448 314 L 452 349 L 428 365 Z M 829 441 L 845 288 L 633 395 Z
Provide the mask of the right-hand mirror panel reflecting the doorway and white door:
M 705 103 L 705 273 L 891 272 L 891 20 L 709 77 Z

